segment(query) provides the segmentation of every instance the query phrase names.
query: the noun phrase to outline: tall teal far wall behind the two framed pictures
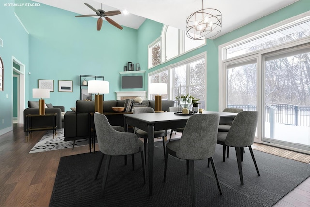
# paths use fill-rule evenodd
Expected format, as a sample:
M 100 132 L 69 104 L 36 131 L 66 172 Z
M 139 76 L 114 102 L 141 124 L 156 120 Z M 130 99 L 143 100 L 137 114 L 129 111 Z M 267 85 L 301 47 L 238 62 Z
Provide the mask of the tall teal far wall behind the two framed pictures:
M 24 1 L 23 1 L 24 2 Z M 46 103 L 63 105 L 66 111 L 80 99 L 79 75 L 104 76 L 110 93 L 105 100 L 115 100 L 120 91 L 120 74 L 127 62 L 137 63 L 137 30 L 120 30 L 97 19 L 75 18 L 72 12 L 40 4 L 19 7 L 16 12 L 29 35 L 29 100 L 38 79 L 54 80 L 54 92 Z M 58 92 L 58 80 L 72 80 L 73 92 Z

